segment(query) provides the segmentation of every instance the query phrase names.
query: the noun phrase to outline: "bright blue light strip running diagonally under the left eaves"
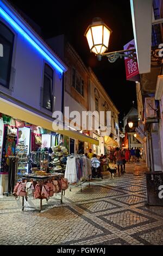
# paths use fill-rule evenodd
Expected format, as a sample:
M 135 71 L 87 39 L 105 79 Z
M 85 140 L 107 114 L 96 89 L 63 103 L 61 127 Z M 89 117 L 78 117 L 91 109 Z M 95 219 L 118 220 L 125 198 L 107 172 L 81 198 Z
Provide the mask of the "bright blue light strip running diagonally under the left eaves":
M 55 57 L 52 56 L 52 54 L 50 52 L 45 50 L 45 47 L 43 45 L 41 45 L 41 42 L 39 42 L 39 40 L 30 31 L 28 31 L 28 29 L 20 21 L 18 21 L 18 19 L 15 17 L 15 15 L 12 14 L 11 11 L 8 10 L 8 8 L 4 5 L 5 9 L 8 10 L 8 13 L 10 14 L 9 15 L 6 11 L 3 10 L 1 5 L 3 5 L 2 2 L 0 2 L 0 15 L 2 15 L 3 19 L 5 21 L 9 22 L 9 24 L 14 29 L 16 29 L 16 31 L 18 33 L 22 34 L 24 36 L 24 38 L 26 38 L 28 40 L 28 42 L 30 42 L 30 44 L 32 44 L 35 47 L 35 49 L 37 51 L 39 51 L 42 54 L 42 56 L 44 58 L 46 58 L 46 60 L 48 60 L 48 62 L 51 63 L 54 66 L 54 68 L 57 69 L 61 74 L 62 74 L 62 72 L 66 71 L 64 66 L 62 66 L 61 63 L 59 63 L 59 61 L 57 59 L 55 59 Z M 25 31 L 25 29 L 26 29 L 26 31 Z M 49 55 L 51 55 L 51 56 L 49 56 Z

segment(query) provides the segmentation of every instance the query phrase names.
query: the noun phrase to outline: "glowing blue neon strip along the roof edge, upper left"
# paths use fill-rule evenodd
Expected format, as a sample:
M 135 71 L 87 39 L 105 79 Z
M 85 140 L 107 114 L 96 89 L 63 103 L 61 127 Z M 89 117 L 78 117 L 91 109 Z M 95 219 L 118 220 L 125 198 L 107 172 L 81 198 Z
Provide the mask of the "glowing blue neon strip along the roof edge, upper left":
M 0 4 L 2 4 L 1 1 L 0 1 Z M 6 7 L 5 7 L 5 8 L 6 8 Z M 61 74 L 62 74 L 62 72 L 66 71 L 66 69 L 64 68 L 64 66 L 62 66 L 61 63 L 59 63 L 57 59 L 55 59 L 55 61 L 54 61 L 54 60 L 52 59 L 52 57 L 49 56 L 49 54 L 52 56 L 51 53 L 47 54 L 47 53 L 45 52 L 45 50 L 42 49 L 42 48 L 45 48 L 43 45 L 42 45 L 42 47 L 39 46 L 39 44 L 40 44 L 39 40 L 37 40 L 37 39 L 35 38 L 35 36 L 32 35 L 32 33 L 30 33 L 30 31 L 28 31 L 27 28 L 26 28 L 26 30 L 28 31 L 28 34 L 30 34 L 30 35 L 28 35 L 27 32 L 25 32 L 25 31 L 20 27 L 20 24 L 21 24 L 20 21 L 17 22 L 17 23 L 19 23 L 19 25 L 18 25 L 18 24 L 14 21 L 14 19 L 12 19 L 1 7 L 0 7 L 0 14 L 3 16 L 3 18 L 4 18 L 7 22 L 10 23 L 10 25 L 11 25 L 12 27 L 14 27 L 19 33 L 21 33 L 21 34 L 24 36 L 24 38 L 26 38 L 26 39 L 29 41 L 30 44 L 32 44 L 32 45 L 36 48 L 36 50 L 39 51 L 39 52 L 42 54 L 42 56 L 45 57 L 45 58 L 48 60 L 48 62 L 51 63 L 51 64 L 54 66 L 55 69 L 57 69 L 59 72 L 61 72 Z M 10 14 L 11 14 L 11 13 L 10 13 Z M 14 15 L 12 14 L 12 16 L 14 16 Z M 15 16 L 14 16 L 14 17 L 15 17 Z M 16 17 L 15 17 L 15 18 L 16 18 Z M 15 20 L 16 20 L 16 19 L 15 19 Z M 24 27 L 24 26 L 22 26 L 22 27 Z M 33 38 L 32 38 L 32 37 L 33 37 Z M 53 57 L 53 58 L 54 58 L 54 57 Z

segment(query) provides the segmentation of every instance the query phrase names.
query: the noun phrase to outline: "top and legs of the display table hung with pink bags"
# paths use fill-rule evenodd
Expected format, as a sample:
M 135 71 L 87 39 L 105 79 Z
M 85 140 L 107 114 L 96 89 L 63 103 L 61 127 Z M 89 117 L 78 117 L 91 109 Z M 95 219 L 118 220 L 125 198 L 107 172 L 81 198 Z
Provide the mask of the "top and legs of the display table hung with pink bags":
M 48 178 L 45 177 L 45 176 L 42 176 L 41 178 L 36 178 L 35 176 L 28 176 L 28 178 L 27 178 L 27 176 L 25 177 L 25 175 L 23 175 L 22 182 L 24 182 L 27 179 L 28 180 L 31 180 L 31 179 L 35 180 L 36 179 L 37 181 L 39 181 L 39 180 L 48 180 Z M 56 196 L 56 193 L 55 193 L 55 196 Z M 61 199 L 60 199 L 60 203 L 61 204 L 63 202 L 63 196 L 65 196 L 65 190 L 61 190 Z M 24 211 L 24 208 L 25 208 L 25 206 L 24 206 L 24 198 L 26 199 L 26 201 L 28 200 L 27 197 L 25 197 L 25 196 L 22 197 L 22 211 Z M 42 200 L 43 199 L 42 198 L 40 199 L 40 210 L 39 210 L 39 212 L 42 211 Z M 48 199 L 46 199 L 46 200 L 48 201 Z

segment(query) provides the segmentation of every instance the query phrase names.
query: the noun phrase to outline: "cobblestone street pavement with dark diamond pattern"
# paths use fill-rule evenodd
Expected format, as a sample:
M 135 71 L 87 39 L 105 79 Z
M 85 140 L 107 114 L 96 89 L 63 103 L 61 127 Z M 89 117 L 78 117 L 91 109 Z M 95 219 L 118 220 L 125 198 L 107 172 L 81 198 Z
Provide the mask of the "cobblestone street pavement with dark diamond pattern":
M 93 179 L 46 202 L 0 198 L 0 245 L 162 245 L 163 208 L 146 205 L 145 163 Z

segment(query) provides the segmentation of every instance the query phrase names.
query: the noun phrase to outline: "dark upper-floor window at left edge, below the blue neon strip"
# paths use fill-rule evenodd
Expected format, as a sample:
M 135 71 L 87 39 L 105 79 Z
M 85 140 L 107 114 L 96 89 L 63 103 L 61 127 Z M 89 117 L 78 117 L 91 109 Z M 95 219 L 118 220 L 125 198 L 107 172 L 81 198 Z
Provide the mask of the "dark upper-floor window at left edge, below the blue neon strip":
M 0 84 L 9 88 L 14 34 L 0 21 L 0 44 L 3 54 L 0 57 Z

